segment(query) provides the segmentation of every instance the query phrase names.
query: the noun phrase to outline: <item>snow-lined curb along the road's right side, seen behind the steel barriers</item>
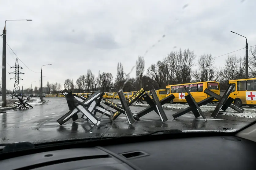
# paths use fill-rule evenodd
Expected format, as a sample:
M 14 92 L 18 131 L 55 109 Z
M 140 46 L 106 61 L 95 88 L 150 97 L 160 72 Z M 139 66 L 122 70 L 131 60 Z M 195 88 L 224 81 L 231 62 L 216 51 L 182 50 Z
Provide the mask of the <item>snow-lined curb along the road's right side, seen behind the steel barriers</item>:
M 117 103 L 116 104 L 121 104 L 121 103 Z M 143 107 L 143 108 L 147 108 L 149 106 L 138 106 L 137 104 L 132 104 L 132 106 L 137 106 L 137 107 Z M 179 112 L 180 110 L 182 109 L 176 109 L 176 108 L 167 108 L 165 106 L 163 106 L 163 109 L 165 110 L 172 110 L 172 111 L 177 111 Z M 191 112 L 188 112 L 188 113 L 191 113 Z M 192 113 L 191 113 L 192 114 Z M 204 112 L 204 114 L 206 116 L 209 116 L 211 117 L 211 114 L 210 112 Z M 228 116 L 228 115 L 222 115 L 221 113 L 219 113 L 217 115 L 216 118 L 219 118 L 219 119 L 226 119 L 226 120 L 234 120 L 234 121 L 240 121 L 240 122 L 254 122 L 256 120 L 256 118 L 241 118 L 241 117 L 234 117 L 234 116 Z

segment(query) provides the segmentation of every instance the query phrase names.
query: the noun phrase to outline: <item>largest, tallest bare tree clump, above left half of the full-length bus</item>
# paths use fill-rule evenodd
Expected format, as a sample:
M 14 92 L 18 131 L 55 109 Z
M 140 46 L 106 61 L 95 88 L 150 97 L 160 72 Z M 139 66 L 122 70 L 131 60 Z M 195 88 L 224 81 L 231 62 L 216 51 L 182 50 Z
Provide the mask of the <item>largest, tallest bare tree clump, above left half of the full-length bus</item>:
M 189 49 L 176 52 L 170 52 L 166 57 L 170 71 L 170 79 L 175 83 L 189 83 L 193 78 L 192 67 L 194 65 L 195 55 Z

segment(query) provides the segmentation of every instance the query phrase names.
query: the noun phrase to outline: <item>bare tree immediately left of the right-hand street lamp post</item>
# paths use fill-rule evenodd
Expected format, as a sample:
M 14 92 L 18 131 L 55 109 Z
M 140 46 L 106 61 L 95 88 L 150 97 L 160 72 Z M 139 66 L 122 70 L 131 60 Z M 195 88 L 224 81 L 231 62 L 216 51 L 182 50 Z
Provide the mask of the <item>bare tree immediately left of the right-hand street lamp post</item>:
M 224 80 L 243 79 L 245 77 L 245 60 L 236 55 L 229 55 L 225 60 L 225 65 L 221 76 Z

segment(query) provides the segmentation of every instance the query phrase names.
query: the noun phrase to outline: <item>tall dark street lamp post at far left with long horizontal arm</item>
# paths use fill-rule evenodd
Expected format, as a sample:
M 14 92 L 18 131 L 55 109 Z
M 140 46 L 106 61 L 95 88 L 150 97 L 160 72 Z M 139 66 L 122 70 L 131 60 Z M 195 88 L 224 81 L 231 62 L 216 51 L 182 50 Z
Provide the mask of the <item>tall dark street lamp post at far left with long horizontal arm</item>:
M 6 21 L 32 21 L 32 19 L 7 19 L 3 29 L 3 55 L 2 55 L 2 107 L 6 107 Z

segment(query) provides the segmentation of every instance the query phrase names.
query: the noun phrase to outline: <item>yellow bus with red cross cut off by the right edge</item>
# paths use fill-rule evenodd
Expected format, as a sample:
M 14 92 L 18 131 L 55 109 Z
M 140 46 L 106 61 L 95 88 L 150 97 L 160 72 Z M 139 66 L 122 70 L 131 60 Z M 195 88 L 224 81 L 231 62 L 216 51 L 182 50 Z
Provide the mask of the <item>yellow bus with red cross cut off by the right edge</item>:
M 229 80 L 228 83 L 235 85 L 229 97 L 235 99 L 236 105 L 249 105 L 251 108 L 256 106 L 256 78 Z

